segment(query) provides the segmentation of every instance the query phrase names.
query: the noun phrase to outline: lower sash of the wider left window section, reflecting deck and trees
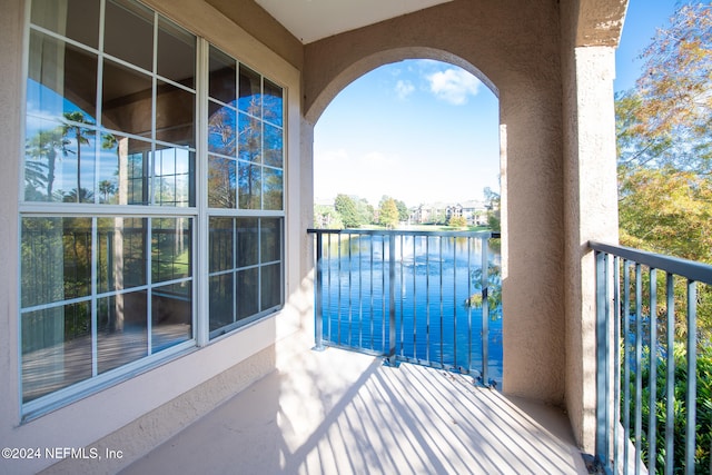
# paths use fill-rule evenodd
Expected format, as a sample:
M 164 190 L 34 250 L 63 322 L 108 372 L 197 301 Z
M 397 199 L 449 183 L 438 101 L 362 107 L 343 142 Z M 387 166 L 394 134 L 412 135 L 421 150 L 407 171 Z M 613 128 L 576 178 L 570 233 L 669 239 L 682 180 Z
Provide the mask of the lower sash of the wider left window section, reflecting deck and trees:
M 187 217 L 22 218 L 23 402 L 192 338 L 191 244 Z

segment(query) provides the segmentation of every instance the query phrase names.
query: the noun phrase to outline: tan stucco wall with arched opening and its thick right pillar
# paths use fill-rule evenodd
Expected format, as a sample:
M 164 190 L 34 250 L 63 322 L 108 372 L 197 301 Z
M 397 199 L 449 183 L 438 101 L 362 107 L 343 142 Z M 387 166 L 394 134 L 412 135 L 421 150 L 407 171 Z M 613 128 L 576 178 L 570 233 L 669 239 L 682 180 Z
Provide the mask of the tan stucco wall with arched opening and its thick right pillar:
M 455 0 L 309 43 L 307 120 L 377 66 L 455 62 L 500 97 L 503 140 L 504 390 L 564 400 L 562 103 L 558 2 Z M 447 184 L 432 184 L 434 187 Z

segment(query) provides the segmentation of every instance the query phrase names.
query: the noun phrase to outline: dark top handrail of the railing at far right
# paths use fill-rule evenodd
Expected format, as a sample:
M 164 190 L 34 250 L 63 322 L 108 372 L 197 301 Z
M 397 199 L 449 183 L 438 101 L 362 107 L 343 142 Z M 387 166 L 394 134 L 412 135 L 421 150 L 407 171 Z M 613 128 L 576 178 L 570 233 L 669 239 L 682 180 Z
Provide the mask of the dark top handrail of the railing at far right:
M 611 254 L 647 267 L 675 274 L 690 280 L 712 285 L 712 266 L 709 264 L 599 241 L 589 241 L 589 247 L 593 250 Z

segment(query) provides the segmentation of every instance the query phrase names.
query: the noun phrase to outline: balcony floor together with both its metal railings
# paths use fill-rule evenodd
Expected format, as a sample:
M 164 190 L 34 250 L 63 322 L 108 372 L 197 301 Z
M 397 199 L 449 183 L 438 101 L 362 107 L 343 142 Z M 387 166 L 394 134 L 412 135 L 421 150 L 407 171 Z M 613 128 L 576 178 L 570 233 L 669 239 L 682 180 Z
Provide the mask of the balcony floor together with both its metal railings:
M 491 274 L 492 235 L 310 232 L 317 241 L 316 347 L 307 349 L 305 342 L 296 355 L 278 353 L 276 372 L 122 473 L 226 473 L 235 467 L 246 473 L 694 474 L 708 469 L 710 436 L 703 431 L 712 413 L 696 404 L 700 375 L 684 382 L 681 399 L 672 376 L 679 360 L 668 357 L 668 348 L 684 346 L 689 374 L 695 373 L 699 350 L 709 350 L 695 319 L 696 287 L 712 284 L 711 266 L 591 244 L 596 257 L 591 271 L 597 278 L 599 336 L 594 461 L 576 446 L 562 410 L 497 390 L 496 369 L 492 372 L 496 365 L 487 360 L 491 279 L 476 285 L 482 294 L 478 311 L 485 318 L 472 319 L 469 307 L 471 325 L 457 329 L 457 313 L 463 309 L 454 307 L 449 328 L 464 336 L 449 344 L 438 340 L 446 335 L 442 331 L 446 316 L 433 316 L 425 327 L 403 323 L 406 314 L 418 318 L 416 306 L 404 304 L 416 299 L 418 291 L 431 296 L 436 308 L 445 308 L 438 296 L 462 286 L 456 279 L 443 284 L 448 273 L 457 273 L 456 266 L 443 264 L 443 243 L 453 261 L 462 261 L 458 250 L 465 250 L 464 260 L 472 266 L 465 273 L 468 280 Z M 418 239 L 427 247 L 421 264 L 435 268 L 436 278 L 426 279 L 435 289 L 417 290 L 415 274 L 412 286 L 406 285 L 411 278 L 404 278 L 405 263 L 411 259 L 417 267 Z M 477 259 L 471 259 L 475 248 Z M 365 268 L 362 253 L 368 263 Z M 482 271 L 473 271 L 477 266 Z M 659 270 L 665 283 L 661 293 Z M 369 277 L 364 281 L 362 274 Z M 688 291 L 682 317 L 674 310 L 675 281 Z M 657 299 L 665 301 L 664 316 L 651 319 L 651 314 L 661 315 Z M 473 320 L 483 326 L 473 328 Z M 685 326 L 682 343 L 675 335 L 680 325 Z M 418 328 L 426 328 L 425 334 Z M 428 345 L 418 344 L 431 339 L 433 348 L 445 349 L 431 353 Z M 467 343 L 459 364 L 462 352 L 447 348 L 457 340 Z M 657 358 L 646 359 L 651 354 Z M 662 379 L 659 368 L 665 372 Z M 626 380 L 631 384 L 622 383 Z M 662 410 L 645 419 L 644 407 L 656 406 Z M 681 406 L 685 410 L 680 426 L 673 412 Z M 655 439 L 657 445 L 649 442 Z M 198 453 L 209 456 L 196 457 Z

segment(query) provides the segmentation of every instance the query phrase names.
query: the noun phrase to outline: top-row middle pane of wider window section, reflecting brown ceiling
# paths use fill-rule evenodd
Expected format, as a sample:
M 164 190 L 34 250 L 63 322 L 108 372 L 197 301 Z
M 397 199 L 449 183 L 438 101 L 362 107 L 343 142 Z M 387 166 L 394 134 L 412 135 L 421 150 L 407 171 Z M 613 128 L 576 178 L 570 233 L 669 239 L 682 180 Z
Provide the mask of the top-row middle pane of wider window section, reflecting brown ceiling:
M 107 1 L 103 50 L 152 71 L 154 12 L 130 0 Z

